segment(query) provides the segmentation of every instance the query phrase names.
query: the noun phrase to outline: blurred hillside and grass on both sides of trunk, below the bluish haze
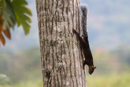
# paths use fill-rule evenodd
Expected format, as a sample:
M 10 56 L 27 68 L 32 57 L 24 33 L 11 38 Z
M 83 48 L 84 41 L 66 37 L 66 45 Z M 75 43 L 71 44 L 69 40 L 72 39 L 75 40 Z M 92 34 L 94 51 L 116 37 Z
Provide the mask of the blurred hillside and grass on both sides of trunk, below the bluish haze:
M 92 75 L 87 73 L 88 87 L 130 87 L 129 47 L 119 46 L 109 51 L 97 48 L 92 53 L 97 68 Z M 40 48 L 1 52 L 0 73 L 8 76 L 13 87 L 42 87 Z

